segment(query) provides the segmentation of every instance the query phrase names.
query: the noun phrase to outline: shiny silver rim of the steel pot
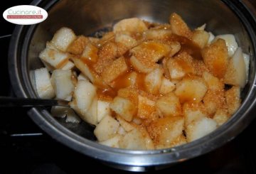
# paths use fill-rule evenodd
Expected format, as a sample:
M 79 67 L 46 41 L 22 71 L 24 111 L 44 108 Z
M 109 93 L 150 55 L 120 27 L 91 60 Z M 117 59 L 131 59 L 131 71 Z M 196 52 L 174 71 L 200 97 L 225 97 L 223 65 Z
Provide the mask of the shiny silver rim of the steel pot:
M 31 5 L 41 6 L 43 9 L 50 9 L 58 0 L 50 1 L 48 4 L 43 4 L 43 0 L 35 0 Z M 248 9 L 248 2 L 246 6 L 240 1 L 233 2 L 228 0 L 222 0 L 227 4 L 230 9 L 240 16 L 240 19 L 247 33 L 252 40 L 252 55 L 255 55 L 256 50 L 256 33 L 252 28 L 256 28 L 255 17 Z M 242 6 L 243 13 L 238 9 L 238 6 Z M 241 9 L 242 9 L 241 8 Z M 251 8 L 251 6 L 250 6 Z M 246 16 L 246 17 L 245 17 Z M 253 26 L 252 26 L 253 25 Z M 18 62 L 18 58 L 25 59 L 27 56 L 27 48 L 33 35 L 33 31 L 37 25 L 33 26 L 16 26 L 14 33 L 11 37 L 11 43 L 9 46 L 9 75 L 11 77 L 11 85 L 14 92 L 18 97 L 36 97 L 33 92 L 33 87 L 29 80 L 29 72 L 26 68 L 26 61 Z M 252 27 L 247 27 L 252 26 Z M 18 67 L 21 67 L 20 69 Z M 22 73 L 26 72 L 26 73 Z M 28 85 L 29 84 L 29 85 Z M 250 90 L 245 97 L 242 106 L 238 109 L 238 112 L 230 118 L 228 122 L 220 126 L 217 130 L 204 136 L 196 141 L 187 143 L 182 146 L 174 148 L 166 148 L 161 150 L 151 151 L 131 151 L 121 148 L 110 148 L 102 146 L 100 143 L 82 138 L 72 131 L 66 129 L 64 126 L 55 121 L 50 116 L 46 109 L 33 108 L 29 110 L 28 114 L 38 126 L 46 131 L 50 136 L 57 141 L 73 148 L 75 151 L 80 151 L 87 156 L 97 158 L 108 163 L 117 163 L 121 165 L 132 166 L 150 166 L 150 165 L 166 165 L 169 163 L 178 163 L 186 161 L 189 158 L 208 153 L 224 143 L 232 140 L 245 129 L 245 127 L 254 119 L 255 116 L 250 115 L 250 111 L 255 105 L 256 96 L 256 77 L 253 75 L 253 82 L 250 86 Z M 228 138 L 227 138 L 228 136 Z M 118 159 L 118 161 L 117 161 Z

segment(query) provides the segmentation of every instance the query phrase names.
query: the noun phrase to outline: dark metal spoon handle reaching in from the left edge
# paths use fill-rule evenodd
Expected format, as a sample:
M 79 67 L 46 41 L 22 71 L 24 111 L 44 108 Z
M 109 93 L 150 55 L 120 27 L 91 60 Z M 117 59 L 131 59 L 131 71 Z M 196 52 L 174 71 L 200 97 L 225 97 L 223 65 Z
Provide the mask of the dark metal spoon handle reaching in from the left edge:
M 0 97 L 0 107 L 70 107 L 69 101 L 61 99 L 31 99 Z

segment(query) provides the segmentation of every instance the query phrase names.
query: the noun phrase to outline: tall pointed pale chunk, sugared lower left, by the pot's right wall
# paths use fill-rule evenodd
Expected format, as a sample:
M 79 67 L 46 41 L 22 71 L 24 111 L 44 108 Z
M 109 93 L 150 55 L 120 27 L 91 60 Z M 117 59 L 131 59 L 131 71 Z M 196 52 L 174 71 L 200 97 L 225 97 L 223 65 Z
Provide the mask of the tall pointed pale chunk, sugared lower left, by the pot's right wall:
M 246 84 L 246 66 L 242 56 L 242 49 L 238 48 L 235 54 L 228 62 L 228 69 L 225 73 L 224 82 L 229 85 L 245 87 Z

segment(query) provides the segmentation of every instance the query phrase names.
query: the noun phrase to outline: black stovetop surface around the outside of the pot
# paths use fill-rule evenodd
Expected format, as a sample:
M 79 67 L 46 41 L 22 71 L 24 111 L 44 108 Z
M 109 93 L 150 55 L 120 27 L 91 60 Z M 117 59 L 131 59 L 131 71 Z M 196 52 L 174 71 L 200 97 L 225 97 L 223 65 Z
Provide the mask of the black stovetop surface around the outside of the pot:
M 1 4 L 1 13 L 10 6 L 28 4 L 29 1 L 7 3 L 9 5 Z M 0 37 L 12 33 L 14 24 L 7 23 L 1 17 L 0 25 Z M 9 39 L 0 38 L 0 96 L 13 95 L 7 70 Z M 92 170 L 94 173 L 128 173 L 109 168 L 73 151 L 47 134 L 20 136 L 43 132 L 26 112 L 27 109 L 21 108 L 0 108 L 0 173 L 89 173 Z M 157 173 L 256 173 L 255 131 L 256 121 L 253 121 L 242 134 L 225 146 Z

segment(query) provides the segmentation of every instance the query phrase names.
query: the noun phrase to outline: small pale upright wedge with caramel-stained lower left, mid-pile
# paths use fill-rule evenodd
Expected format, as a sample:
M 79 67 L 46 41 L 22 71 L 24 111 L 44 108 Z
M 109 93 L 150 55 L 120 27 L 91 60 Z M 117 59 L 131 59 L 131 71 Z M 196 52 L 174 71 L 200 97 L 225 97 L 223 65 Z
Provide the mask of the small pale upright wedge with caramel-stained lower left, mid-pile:
M 151 94 L 159 93 L 163 73 L 164 70 L 162 68 L 156 68 L 156 70 L 153 70 L 148 75 L 146 75 L 144 82 L 147 92 Z

